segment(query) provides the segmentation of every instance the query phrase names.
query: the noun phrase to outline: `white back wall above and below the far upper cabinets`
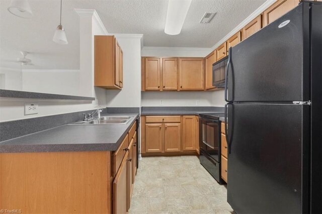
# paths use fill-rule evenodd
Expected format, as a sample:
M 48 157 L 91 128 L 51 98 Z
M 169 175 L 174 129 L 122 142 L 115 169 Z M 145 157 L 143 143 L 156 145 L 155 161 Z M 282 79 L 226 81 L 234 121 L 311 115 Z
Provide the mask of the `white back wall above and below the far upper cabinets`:
M 210 48 L 143 47 L 142 56 L 205 57 Z M 224 106 L 224 91 L 142 92 L 142 106 Z M 197 104 L 197 102 L 199 104 Z

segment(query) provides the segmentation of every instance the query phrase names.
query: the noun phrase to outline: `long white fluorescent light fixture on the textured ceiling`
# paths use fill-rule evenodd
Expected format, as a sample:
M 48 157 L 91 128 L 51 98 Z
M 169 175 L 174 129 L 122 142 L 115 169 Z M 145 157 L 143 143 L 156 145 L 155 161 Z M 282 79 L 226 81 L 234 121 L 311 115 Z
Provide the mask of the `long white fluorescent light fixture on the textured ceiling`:
M 185 22 L 191 0 L 169 0 L 165 33 L 178 35 Z

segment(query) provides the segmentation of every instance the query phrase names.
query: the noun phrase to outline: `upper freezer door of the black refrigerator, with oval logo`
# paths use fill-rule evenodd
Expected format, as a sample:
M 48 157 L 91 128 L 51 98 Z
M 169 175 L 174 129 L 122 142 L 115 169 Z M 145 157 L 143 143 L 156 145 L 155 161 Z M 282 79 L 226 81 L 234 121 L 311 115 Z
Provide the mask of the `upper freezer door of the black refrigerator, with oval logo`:
M 306 6 L 297 6 L 231 48 L 228 101 L 309 100 Z

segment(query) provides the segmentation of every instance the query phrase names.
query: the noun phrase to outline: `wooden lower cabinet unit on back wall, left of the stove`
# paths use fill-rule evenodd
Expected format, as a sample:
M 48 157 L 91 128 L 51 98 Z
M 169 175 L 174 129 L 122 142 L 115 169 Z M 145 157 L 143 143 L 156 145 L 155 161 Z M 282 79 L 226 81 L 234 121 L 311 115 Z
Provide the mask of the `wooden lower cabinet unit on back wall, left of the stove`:
M 141 116 L 141 154 L 165 153 L 199 154 L 198 116 Z

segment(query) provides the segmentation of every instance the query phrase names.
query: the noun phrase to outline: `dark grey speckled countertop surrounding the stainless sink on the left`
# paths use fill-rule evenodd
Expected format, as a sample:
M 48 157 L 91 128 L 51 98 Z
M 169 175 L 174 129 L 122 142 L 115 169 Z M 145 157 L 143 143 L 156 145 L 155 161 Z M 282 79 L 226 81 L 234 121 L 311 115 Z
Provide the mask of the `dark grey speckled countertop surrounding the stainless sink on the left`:
M 63 125 L 53 129 L 0 142 L 0 153 L 115 151 L 139 114 L 104 114 L 133 116 L 126 125 Z

